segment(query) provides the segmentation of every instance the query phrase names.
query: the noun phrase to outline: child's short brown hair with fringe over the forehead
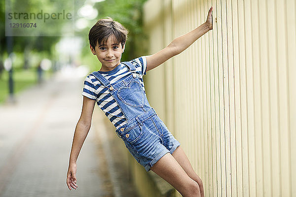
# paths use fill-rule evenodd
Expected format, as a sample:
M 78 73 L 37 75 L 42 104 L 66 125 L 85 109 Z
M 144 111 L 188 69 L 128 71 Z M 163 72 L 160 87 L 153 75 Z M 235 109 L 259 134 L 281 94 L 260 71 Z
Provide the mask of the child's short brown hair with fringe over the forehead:
M 98 22 L 90 29 L 88 33 L 89 44 L 96 50 L 97 43 L 106 43 L 111 35 L 115 36 L 115 41 L 125 44 L 127 38 L 127 29 L 111 17 L 99 19 Z

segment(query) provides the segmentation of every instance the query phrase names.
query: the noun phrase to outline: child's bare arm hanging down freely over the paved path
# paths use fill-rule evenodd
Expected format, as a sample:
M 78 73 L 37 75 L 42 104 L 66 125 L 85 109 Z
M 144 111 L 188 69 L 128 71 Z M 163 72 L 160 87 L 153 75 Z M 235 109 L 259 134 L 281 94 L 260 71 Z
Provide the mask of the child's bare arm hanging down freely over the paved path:
M 74 132 L 69 168 L 67 172 L 67 185 L 69 190 L 71 190 L 71 187 L 74 189 L 78 187 L 76 185 L 76 161 L 82 144 L 91 126 L 91 117 L 93 114 L 95 102 L 96 100 L 92 100 L 83 96 L 82 111 Z

